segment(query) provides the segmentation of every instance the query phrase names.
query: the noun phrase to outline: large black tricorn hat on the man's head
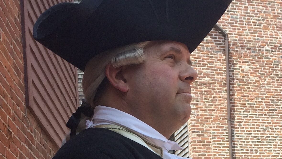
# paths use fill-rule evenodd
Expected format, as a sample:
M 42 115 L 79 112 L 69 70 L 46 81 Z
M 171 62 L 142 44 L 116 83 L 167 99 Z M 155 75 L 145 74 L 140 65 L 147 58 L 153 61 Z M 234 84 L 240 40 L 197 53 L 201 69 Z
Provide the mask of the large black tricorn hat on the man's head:
M 84 71 L 109 49 L 155 40 L 197 48 L 232 0 L 83 0 L 46 10 L 34 25 L 39 43 Z

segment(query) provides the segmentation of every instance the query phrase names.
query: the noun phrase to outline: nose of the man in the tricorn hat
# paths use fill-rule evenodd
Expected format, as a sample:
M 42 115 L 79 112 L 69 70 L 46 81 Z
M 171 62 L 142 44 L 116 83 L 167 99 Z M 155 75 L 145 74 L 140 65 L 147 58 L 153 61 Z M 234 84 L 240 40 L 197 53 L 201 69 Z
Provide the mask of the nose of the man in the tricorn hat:
M 198 74 L 195 69 L 188 65 L 186 68 L 180 71 L 179 78 L 181 81 L 191 84 L 192 82 L 197 80 Z

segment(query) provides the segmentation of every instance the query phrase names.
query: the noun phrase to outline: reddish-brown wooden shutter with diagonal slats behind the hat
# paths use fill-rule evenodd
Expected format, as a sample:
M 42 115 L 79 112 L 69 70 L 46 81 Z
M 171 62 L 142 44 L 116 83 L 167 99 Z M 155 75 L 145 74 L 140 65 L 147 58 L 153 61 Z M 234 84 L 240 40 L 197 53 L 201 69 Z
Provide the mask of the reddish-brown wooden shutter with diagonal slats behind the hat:
M 59 147 L 65 126 L 78 106 L 77 69 L 36 42 L 32 30 L 37 18 L 50 6 L 72 0 L 24 0 L 27 106 L 42 129 Z

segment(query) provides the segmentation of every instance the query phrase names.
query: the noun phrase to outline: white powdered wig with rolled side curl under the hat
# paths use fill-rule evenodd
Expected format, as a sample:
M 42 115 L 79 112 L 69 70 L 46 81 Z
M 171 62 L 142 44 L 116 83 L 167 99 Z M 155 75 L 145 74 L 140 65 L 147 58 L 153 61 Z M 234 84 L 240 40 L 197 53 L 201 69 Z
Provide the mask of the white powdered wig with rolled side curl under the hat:
M 144 46 L 149 41 L 131 44 L 124 47 L 109 50 L 94 56 L 86 65 L 82 80 L 82 87 L 85 99 L 91 107 L 95 107 L 94 98 L 97 89 L 105 78 L 105 67 L 111 63 L 118 68 L 125 65 L 143 63 L 145 54 Z

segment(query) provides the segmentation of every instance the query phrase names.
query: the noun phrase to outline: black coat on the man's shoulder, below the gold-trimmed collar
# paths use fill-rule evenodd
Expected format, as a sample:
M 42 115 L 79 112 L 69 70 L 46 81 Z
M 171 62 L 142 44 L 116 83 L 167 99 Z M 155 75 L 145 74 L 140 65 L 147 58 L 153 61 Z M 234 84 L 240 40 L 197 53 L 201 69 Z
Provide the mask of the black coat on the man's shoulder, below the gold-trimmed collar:
M 65 143 L 53 159 L 161 159 L 143 145 L 116 132 L 89 128 Z

